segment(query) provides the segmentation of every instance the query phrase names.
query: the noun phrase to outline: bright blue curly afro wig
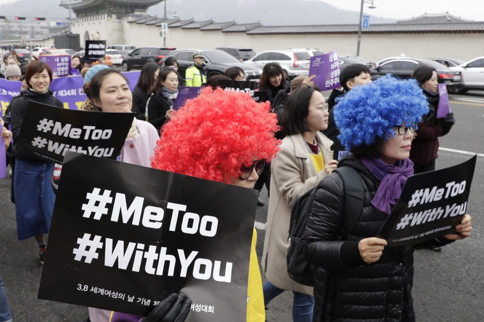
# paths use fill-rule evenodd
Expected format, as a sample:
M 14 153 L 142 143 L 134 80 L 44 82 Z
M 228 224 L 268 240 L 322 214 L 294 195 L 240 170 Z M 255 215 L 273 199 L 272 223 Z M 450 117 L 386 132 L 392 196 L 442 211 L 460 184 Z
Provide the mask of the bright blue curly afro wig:
M 334 122 L 341 144 L 351 150 L 388 140 L 395 135 L 394 126 L 420 122 L 428 112 L 427 99 L 415 79 L 386 75 L 346 93 L 334 107 Z

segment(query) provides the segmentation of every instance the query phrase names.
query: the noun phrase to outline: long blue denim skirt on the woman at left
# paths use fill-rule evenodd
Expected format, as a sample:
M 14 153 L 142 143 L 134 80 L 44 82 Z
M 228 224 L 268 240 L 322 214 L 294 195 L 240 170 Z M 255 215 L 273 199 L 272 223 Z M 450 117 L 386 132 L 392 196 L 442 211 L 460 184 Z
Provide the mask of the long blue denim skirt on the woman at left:
M 15 160 L 13 191 L 18 240 L 49 232 L 55 202 L 53 170 L 53 162 Z

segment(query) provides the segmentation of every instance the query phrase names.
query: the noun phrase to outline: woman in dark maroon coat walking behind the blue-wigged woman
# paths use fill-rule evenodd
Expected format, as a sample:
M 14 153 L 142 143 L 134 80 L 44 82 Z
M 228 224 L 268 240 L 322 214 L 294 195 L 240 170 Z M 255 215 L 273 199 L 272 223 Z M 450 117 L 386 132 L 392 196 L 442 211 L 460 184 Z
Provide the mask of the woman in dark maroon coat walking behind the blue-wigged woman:
M 419 82 L 429 103 L 429 113 L 424 115 L 419 122 L 417 137 L 412 142 L 410 151 L 410 160 L 414 162 L 414 172 L 421 173 L 435 170 L 439 137 L 448 134 L 456 120 L 452 112 L 443 119 L 437 118 L 440 95 L 435 68 L 420 66 L 413 72 L 411 78 L 415 78 Z

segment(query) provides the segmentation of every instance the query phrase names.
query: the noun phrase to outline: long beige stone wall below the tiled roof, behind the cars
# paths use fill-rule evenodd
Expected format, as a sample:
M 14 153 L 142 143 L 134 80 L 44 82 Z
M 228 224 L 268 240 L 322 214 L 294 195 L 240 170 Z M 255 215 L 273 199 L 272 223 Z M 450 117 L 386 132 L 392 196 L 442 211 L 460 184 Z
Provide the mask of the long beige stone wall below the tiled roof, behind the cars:
M 91 19 L 76 19 L 72 26 L 81 41 L 85 31 L 99 32 L 107 44 L 132 44 L 137 47 L 163 45 L 161 27 L 143 23 L 127 23 L 105 15 Z M 409 57 L 448 57 L 470 60 L 484 55 L 482 33 L 415 33 L 415 34 L 363 34 L 360 55 L 370 61 L 402 53 Z M 169 28 L 167 46 L 176 48 L 209 49 L 218 46 L 249 47 L 255 52 L 290 47 L 319 48 L 324 52 L 336 49 L 341 54 L 356 54 L 356 34 L 288 34 L 247 35 L 245 32 L 201 31 L 199 29 Z

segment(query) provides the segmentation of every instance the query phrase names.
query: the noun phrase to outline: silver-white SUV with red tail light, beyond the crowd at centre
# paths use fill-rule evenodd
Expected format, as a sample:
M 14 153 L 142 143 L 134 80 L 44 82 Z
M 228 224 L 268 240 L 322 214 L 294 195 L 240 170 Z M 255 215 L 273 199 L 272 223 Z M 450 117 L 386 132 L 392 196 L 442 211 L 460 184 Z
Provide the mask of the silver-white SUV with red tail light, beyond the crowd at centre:
M 309 74 L 310 59 L 311 55 L 307 50 L 267 50 L 262 51 L 243 63 L 264 68 L 267 63 L 276 62 L 284 70 L 286 78 L 292 79 L 299 75 L 307 76 Z

